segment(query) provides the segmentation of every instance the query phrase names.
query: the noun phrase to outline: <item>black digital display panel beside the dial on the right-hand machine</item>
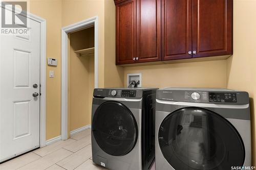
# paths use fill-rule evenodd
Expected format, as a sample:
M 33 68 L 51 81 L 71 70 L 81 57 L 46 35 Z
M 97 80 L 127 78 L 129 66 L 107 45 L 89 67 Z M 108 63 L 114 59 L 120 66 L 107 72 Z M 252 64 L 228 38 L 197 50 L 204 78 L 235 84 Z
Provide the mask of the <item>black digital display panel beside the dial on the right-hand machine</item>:
M 237 93 L 209 92 L 209 102 L 237 103 Z

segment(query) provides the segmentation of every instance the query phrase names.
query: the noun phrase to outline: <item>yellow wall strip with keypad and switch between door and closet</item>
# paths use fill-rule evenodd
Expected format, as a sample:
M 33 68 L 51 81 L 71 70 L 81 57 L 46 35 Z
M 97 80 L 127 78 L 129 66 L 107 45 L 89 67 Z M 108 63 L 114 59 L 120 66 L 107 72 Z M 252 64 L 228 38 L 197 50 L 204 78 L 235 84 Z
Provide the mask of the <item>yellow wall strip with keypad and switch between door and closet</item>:
M 46 79 L 46 139 L 60 135 L 61 126 L 61 1 L 31 0 L 30 12 L 47 20 L 47 57 L 56 58 L 58 66 L 47 66 Z M 54 70 L 54 78 L 49 78 Z

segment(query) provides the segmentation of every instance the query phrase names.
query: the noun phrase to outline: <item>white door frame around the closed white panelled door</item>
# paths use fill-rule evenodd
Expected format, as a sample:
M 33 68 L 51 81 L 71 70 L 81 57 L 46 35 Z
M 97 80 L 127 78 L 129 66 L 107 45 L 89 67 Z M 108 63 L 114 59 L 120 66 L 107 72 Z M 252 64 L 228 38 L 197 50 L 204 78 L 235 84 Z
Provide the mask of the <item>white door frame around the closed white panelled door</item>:
M 0 3 L 2 7 L 2 3 Z M 11 8 L 5 8 L 12 11 Z M 3 9 L 1 9 L 3 10 Z M 18 12 L 20 10 L 15 9 Z M 46 145 L 46 20 L 34 14 L 21 12 L 20 15 L 40 23 L 40 147 Z

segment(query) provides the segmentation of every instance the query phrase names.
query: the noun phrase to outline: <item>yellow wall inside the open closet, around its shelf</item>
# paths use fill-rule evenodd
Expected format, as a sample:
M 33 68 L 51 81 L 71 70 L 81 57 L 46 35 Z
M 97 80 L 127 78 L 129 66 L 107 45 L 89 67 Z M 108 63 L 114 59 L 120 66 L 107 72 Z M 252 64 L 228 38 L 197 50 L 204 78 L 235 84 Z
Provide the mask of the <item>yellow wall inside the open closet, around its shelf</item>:
M 94 47 L 94 27 L 69 35 L 69 131 L 91 124 L 94 56 L 78 57 L 74 51 Z

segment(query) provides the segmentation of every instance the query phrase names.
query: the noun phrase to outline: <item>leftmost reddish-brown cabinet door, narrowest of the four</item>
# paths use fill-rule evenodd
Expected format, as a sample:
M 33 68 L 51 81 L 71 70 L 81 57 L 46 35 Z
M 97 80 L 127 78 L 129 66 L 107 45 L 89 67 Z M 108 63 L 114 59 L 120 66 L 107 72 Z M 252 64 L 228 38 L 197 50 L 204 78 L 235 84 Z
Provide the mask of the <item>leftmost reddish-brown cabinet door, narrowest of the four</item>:
M 136 1 L 116 4 L 116 64 L 134 63 L 136 56 Z

